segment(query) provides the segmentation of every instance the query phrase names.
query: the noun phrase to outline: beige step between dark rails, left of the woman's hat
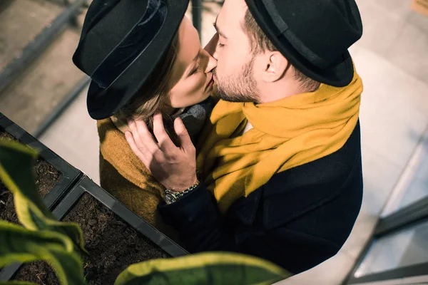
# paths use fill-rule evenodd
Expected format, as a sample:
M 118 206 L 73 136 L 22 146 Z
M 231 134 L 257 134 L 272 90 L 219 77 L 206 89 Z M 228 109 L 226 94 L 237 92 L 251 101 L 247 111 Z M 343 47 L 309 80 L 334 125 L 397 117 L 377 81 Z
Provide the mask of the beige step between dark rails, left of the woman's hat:
M 46 2 L 22 1 L 34 1 L 38 4 Z M 51 21 L 52 18 L 55 17 L 49 17 Z M 66 26 L 41 56 L 30 63 L 0 94 L 0 112 L 29 133 L 34 133 L 39 128 L 84 77 L 71 61 L 80 37 L 82 20 L 82 16 L 79 16 L 78 27 Z

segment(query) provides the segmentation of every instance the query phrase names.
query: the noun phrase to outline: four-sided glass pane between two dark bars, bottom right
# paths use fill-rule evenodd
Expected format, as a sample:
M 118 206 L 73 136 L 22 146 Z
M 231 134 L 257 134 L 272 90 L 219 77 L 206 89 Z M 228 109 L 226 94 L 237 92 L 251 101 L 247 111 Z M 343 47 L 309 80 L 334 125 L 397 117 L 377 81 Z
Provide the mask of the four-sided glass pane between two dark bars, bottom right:
M 428 219 L 374 240 L 355 277 L 425 262 L 428 262 Z

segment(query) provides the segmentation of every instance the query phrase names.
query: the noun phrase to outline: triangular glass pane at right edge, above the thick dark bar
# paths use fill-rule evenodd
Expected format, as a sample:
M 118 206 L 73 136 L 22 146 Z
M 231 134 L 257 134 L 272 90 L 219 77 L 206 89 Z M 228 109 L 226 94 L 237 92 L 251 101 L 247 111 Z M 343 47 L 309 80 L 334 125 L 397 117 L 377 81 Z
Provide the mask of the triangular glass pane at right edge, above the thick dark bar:
M 419 142 L 409 160 L 406 170 L 382 212 L 382 217 L 424 197 L 428 197 L 428 132 L 425 132 L 423 140 Z

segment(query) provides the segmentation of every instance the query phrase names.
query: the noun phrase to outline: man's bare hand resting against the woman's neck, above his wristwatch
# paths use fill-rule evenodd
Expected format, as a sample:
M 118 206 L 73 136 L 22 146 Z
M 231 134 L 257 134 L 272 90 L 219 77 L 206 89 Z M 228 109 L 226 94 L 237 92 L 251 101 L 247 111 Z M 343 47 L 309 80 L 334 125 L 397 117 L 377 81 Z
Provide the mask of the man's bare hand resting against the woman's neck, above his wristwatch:
M 195 146 L 180 118 L 174 121 L 180 147 L 176 147 L 165 132 L 161 114 L 153 116 L 153 133 L 158 142 L 153 140 L 143 120 L 130 120 L 128 125 L 131 132 L 126 132 L 125 136 L 132 151 L 166 189 L 184 191 L 195 184 Z

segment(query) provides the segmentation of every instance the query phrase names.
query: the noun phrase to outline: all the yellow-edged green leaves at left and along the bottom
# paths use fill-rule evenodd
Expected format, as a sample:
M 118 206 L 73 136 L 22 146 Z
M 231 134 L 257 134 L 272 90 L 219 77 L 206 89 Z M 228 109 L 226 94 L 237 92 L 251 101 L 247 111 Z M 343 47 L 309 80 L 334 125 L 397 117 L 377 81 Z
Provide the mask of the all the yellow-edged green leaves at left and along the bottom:
M 58 222 L 34 183 L 37 152 L 17 142 L 0 140 L 0 179 L 14 195 L 25 228 L 0 221 L 0 267 L 16 261 L 48 261 L 61 284 L 86 284 L 77 251 L 83 247 L 78 224 Z M 269 261 L 243 254 L 208 252 L 173 259 L 155 259 L 128 266 L 115 285 L 129 284 L 272 284 L 290 273 Z M 32 285 L 25 281 L 1 282 Z

